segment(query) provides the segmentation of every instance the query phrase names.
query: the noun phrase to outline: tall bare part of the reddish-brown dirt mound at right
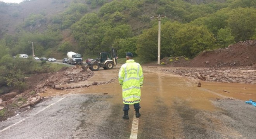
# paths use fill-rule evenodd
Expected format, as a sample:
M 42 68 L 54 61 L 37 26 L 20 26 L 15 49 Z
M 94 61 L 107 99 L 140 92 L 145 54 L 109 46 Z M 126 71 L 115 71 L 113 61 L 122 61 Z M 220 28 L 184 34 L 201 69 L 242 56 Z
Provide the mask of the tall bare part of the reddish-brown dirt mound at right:
M 204 51 L 189 62 L 190 67 L 233 67 L 256 65 L 256 40 L 238 42 L 225 49 Z

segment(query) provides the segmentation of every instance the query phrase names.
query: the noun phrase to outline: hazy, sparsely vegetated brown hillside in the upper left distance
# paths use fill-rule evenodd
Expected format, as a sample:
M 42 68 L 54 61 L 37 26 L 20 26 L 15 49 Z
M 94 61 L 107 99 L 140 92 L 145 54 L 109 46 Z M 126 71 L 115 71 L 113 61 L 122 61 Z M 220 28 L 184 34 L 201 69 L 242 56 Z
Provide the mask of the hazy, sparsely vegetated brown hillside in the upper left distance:
M 30 14 L 43 14 L 50 19 L 55 14 L 62 12 L 67 8 L 72 0 L 31 0 L 17 3 L 0 3 L 0 35 L 4 33 L 14 34 L 19 25 L 24 24 L 24 21 Z M 40 27 L 40 30 L 45 30 L 49 21 Z M 0 36 L 2 38 L 2 36 Z

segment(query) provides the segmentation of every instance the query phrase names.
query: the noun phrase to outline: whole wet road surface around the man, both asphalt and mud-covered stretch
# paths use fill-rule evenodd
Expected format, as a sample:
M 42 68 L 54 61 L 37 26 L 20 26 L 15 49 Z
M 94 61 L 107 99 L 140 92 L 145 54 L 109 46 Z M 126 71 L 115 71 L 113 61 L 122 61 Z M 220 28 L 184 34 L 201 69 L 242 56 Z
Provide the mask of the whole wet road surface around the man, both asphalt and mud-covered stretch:
M 116 76 L 118 68 L 95 77 Z M 106 76 L 104 77 L 106 78 Z M 112 78 L 112 77 L 111 77 Z M 186 78 L 144 72 L 136 138 L 133 107 L 123 120 L 121 86 L 117 81 L 70 90 L 44 100 L 30 110 L 0 123 L 1 139 L 252 139 L 256 107 L 239 97 L 256 99 L 256 86 L 197 84 Z M 92 78 L 93 81 L 95 78 Z M 103 81 L 103 79 L 102 79 Z M 213 87 L 214 86 L 214 87 Z M 230 86 L 230 93 L 220 92 Z M 246 88 L 246 89 L 244 89 Z M 104 95 L 105 94 L 105 95 Z

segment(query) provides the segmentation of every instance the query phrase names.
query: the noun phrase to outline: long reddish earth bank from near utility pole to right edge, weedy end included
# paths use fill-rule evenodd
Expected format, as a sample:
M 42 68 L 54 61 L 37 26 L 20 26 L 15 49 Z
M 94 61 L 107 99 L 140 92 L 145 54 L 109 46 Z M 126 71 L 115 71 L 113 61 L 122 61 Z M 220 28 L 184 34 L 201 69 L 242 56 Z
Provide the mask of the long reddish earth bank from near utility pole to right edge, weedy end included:
M 157 65 L 157 63 L 154 62 L 145 65 L 191 68 L 256 66 L 256 40 L 238 42 L 224 49 L 203 51 L 191 60 L 188 60 L 183 56 L 165 57 L 161 59 L 161 63 L 163 64 Z

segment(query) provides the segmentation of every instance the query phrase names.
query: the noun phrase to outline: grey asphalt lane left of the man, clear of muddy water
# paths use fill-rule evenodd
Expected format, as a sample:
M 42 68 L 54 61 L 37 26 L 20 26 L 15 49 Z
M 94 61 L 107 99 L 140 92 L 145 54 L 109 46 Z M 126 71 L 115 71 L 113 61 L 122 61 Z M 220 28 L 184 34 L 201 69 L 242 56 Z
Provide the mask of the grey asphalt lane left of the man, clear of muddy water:
M 113 106 L 105 100 L 108 97 L 72 94 L 45 100 L 2 122 L 1 139 L 129 138 L 129 122 L 116 119 Z

